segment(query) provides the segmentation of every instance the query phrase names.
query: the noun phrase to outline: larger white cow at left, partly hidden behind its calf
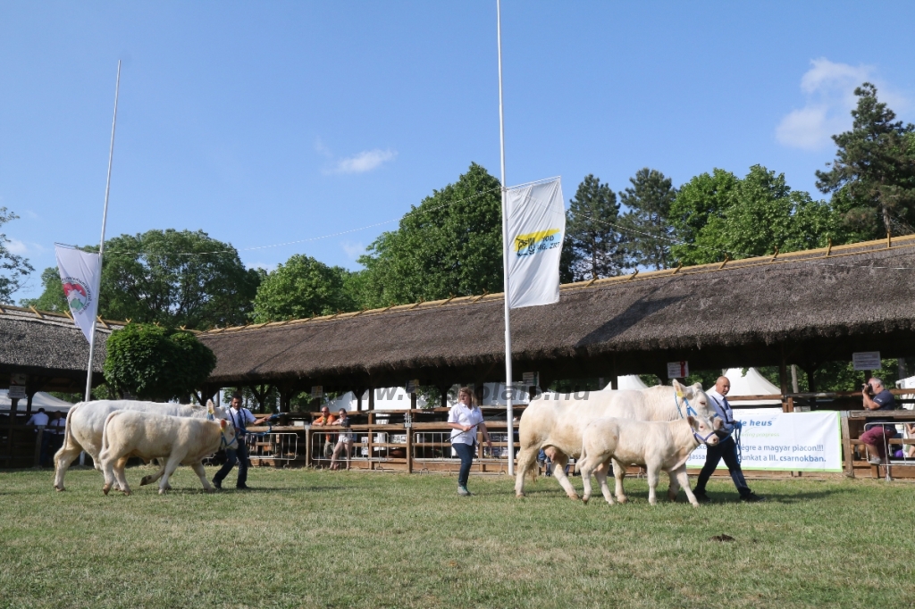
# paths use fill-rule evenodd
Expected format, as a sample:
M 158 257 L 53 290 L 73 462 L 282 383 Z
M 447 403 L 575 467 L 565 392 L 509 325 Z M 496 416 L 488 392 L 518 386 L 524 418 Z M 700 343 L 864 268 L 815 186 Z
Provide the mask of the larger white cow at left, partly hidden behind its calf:
M 86 451 L 92 457 L 95 469 L 102 471 L 99 454 L 102 452 L 102 430 L 105 419 L 113 411 L 145 411 L 178 417 L 205 419 L 208 411 L 202 406 L 161 404 L 155 401 L 95 400 L 81 401 L 67 413 L 67 428 L 63 445 L 54 455 L 54 488 L 64 490 L 63 476 L 70 464 Z M 225 418 L 225 411 L 216 409 L 216 417 Z

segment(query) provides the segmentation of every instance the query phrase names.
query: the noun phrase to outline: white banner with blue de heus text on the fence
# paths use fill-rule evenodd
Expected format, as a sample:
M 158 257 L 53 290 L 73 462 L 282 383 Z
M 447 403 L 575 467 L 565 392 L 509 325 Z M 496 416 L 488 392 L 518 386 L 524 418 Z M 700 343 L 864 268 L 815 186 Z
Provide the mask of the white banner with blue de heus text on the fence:
M 734 417 L 740 433 L 740 467 L 792 472 L 841 472 L 842 432 L 836 411 L 781 412 L 742 409 Z M 705 465 L 705 444 L 693 451 L 687 467 Z M 718 469 L 725 468 L 724 460 Z

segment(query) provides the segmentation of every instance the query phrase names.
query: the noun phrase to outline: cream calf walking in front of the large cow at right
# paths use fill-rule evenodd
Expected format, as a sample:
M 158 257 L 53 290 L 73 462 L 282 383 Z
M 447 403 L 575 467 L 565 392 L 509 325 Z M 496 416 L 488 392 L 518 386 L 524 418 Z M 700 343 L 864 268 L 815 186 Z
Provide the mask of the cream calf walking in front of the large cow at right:
M 591 498 L 591 474 L 594 474 L 607 503 L 613 505 L 610 487 L 607 486 L 607 465 L 612 459 L 619 503 L 626 502 L 623 493 L 626 466 L 640 465 L 645 468 L 648 477 L 648 502 L 652 506 L 658 502 L 658 475 L 663 470 L 671 476 L 667 497 L 671 501 L 676 499 L 679 486 L 683 486 L 689 502 L 698 507 L 699 502 L 686 475 L 686 459 L 700 443 L 710 446 L 718 443 L 712 423 L 700 417 L 687 416 L 670 422 L 614 418 L 592 421 L 585 428 L 581 457 L 576 463 L 576 471 L 581 471 L 581 480 L 585 485 L 582 500 L 587 503 Z

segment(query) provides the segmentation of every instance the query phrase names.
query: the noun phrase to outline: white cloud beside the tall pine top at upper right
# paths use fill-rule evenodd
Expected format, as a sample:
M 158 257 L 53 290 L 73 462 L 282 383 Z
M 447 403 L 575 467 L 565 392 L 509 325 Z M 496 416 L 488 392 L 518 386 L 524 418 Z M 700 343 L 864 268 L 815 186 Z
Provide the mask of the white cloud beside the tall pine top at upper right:
M 830 136 L 851 126 L 851 112 L 856 107 L 855 88 L 862 82 L 877 84 L 879 99 L 899 112 L 907 106 L 904 97 L 887 91 L 873 77 L 872 66 L 851 66 L 829 59 L 811 60 L 811 69 L 801 79 L 804 107 L 789 112 L 775 129 L 781 144 L 803 150 L 821 150 L 832 145 Z

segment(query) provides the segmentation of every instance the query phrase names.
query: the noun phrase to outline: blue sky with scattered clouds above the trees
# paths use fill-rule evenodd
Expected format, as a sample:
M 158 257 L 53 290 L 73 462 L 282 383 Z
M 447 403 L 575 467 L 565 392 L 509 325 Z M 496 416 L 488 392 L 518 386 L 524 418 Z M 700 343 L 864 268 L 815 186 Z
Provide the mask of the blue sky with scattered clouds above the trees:
M 471 162 L 499 175 L 495 0 L 0 1 L 0 207 L 38 272 L 108 235 L 202 229 L 249 265 L 357 268 Z M 614 190 L 762 164 L 812 191 L 863 80 L 915 120 L 910 2 L 505 0 L 507 181 Z M 17 298 L 38 294 L 38 272 Z

